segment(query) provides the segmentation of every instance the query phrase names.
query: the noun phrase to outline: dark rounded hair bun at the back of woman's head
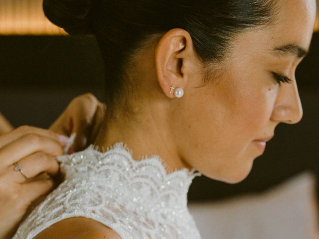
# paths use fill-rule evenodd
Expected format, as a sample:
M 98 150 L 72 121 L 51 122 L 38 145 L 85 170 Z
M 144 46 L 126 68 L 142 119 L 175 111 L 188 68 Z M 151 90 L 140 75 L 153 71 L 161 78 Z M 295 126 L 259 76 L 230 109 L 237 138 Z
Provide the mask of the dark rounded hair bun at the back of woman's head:
M 69 34 L 90 34 L 93 0 L 43 0 L 43 11 L 55 25 Z

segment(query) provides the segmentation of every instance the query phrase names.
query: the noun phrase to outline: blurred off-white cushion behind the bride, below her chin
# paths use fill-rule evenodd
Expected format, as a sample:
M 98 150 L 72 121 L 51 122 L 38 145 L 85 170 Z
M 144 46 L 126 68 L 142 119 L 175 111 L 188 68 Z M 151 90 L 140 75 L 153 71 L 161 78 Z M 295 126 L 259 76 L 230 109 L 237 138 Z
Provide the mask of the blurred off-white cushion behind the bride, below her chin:
M 305 173 L 261 194 L 189 210 L 202 239 L 319 239 L 315 188 L 316 177 Z

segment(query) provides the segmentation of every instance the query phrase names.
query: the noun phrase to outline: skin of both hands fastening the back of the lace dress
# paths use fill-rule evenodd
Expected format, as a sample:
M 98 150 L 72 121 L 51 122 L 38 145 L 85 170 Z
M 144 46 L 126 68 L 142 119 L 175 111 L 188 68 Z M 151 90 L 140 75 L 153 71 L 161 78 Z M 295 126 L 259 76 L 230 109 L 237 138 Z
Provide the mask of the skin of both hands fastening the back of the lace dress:
M 72 100 L 51 130 L 30 126 L 13 129 L 0 118 L 5 122 L 0 123 L 5 132 L 0 134 L 0 239 L 12 238 L 21 219 L 60 183 L 56 156 L 63 154 L 68 139 L 63 135 L 76 132 L 71 150 L 83 149 L 90 142 L 88 132 L 97 131 L 104 111 L 93 95 L 85 94 Z M 28 180 L 14 171 L 15 162 Z

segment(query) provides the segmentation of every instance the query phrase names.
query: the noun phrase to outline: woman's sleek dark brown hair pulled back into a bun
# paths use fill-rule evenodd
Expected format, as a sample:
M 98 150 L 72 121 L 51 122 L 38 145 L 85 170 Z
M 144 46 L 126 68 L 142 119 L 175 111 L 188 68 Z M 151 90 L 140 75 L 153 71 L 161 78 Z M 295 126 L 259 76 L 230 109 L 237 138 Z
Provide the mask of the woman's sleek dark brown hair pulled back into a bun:
M 270 24 L 275 0 L 44 0 L 45 15 L 69 34 L 93 34 L 105 62 L 106 104 L 125 104 L 125 65 L 150 36 L 182 28 L 202 62 L 221 60 L 235 34 Z

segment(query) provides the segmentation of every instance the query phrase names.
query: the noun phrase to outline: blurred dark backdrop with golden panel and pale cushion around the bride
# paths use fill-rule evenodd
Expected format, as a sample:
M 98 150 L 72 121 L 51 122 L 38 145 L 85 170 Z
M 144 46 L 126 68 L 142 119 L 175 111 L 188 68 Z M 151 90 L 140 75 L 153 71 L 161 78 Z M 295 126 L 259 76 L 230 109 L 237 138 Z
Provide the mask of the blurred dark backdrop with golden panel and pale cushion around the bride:
M 302 121 L 278 126 L 243 182 L 229 185 L 203 176 L 194 180 L 189 207 L 203 239 L 314 238 L 319 195 L 317 31 L 311 53 L 296 73 Z M 0 112 L 14 126 L 48 127 L 72 98 L 86 92 L 103 101 L 103 75 L 93 37 L 66 36 L 44 17 L 42 0 L 0 0 Z

